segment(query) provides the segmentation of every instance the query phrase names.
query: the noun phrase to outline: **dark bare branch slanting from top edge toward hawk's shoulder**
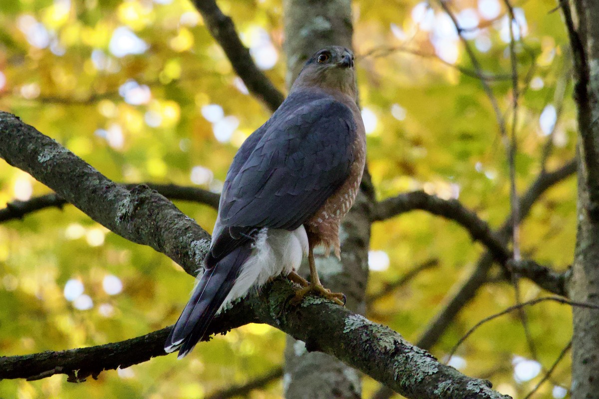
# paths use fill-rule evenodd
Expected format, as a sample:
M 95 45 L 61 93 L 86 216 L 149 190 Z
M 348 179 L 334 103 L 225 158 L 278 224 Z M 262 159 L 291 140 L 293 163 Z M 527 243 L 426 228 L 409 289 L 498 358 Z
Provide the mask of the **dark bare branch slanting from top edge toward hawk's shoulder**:
M 261 99 L 271 111 L 279 108 L 284 96 L 262 72 L 243 45 L 230 17 L 220 11 L 214 0 L 194 0 L 193 5 L 202 14 L 210 34 L 225 51 L 233 69 L 246 84 L 247 90 Z

